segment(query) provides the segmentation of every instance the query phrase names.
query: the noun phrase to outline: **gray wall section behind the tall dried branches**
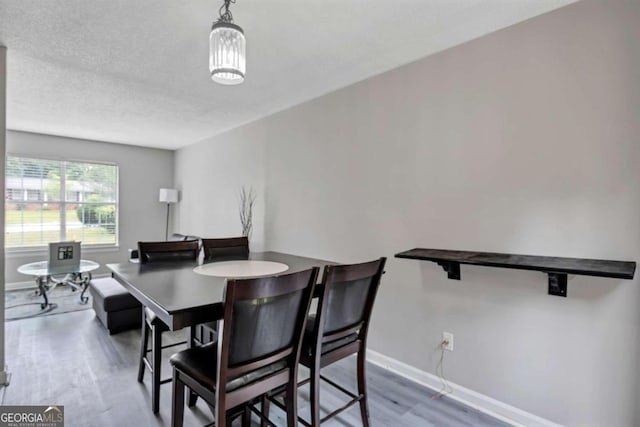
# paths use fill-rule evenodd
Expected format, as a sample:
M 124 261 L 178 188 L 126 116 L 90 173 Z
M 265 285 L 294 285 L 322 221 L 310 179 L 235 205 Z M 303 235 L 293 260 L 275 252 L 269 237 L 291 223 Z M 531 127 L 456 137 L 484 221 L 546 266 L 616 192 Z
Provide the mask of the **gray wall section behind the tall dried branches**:
M 253 251 L 264 248 L 265 144 L 260 124 L 176 151 L 175 185 L 181 191 L 176 229 L 200 237 L 240 236 L 239 192 L 253 188 Z

